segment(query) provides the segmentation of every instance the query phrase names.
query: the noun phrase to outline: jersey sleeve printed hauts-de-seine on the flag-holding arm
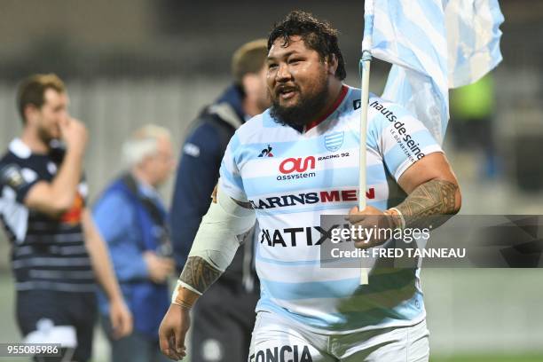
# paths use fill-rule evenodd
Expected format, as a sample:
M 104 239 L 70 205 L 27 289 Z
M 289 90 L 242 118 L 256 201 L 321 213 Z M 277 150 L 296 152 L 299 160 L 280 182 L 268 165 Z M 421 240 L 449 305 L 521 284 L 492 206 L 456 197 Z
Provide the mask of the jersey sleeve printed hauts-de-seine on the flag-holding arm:
M 396 181 L 427 154 L 443 152 L 424 124 L 404 107 L 372 99 L 369 109 L 372 123 L 368 141 L 382 155 Z

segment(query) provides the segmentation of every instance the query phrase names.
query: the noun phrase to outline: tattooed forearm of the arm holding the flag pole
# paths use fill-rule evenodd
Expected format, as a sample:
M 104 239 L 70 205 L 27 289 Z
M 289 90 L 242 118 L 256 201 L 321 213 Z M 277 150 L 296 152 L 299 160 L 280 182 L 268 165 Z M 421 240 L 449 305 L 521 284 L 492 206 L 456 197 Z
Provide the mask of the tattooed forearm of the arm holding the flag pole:
M 431 180 L 419 185 L 396 209 L 409 226 L 421 224 L 427 216 L 453 215 L 458 185 L 445 180 Z M 422 224 L 425 224 L 422 222 Z

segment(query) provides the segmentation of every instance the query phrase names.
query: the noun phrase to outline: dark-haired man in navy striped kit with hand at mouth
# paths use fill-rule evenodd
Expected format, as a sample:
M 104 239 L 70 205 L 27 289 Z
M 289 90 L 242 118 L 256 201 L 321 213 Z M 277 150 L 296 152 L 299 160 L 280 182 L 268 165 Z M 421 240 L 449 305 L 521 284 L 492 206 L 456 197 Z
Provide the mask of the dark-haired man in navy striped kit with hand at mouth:
M 85 206 L 87 130 L 68 114 L 67 91 L 56 75 L 28 77 L 17 103 L 22 135 L 0 161 L 0 215 L 12 240 L 17 323 L 24 342 L 61 343 L 63 356 L 47 360 L 86 361 L 96 318 L 95 278 L 111 305 L 115 336 L 132 328 Z

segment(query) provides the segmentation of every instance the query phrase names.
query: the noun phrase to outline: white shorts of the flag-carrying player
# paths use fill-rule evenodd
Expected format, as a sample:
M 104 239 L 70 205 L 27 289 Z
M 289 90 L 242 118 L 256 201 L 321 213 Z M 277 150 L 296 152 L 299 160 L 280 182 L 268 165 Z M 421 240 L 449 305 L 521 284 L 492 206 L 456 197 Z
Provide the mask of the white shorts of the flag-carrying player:
M 428 362 L 426 320 L 352 334 L 317 334 L 268 311 L 259 311 L 249 362 Z

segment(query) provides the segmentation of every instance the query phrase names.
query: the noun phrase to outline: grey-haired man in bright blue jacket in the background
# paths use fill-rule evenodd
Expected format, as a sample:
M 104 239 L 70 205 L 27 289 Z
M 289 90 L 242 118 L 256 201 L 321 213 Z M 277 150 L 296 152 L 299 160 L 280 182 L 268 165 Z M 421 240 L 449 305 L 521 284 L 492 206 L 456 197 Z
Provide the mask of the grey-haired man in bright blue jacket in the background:
M 94 217 L 134 316 L 134 332 L 114 339 L 106 318 L 109 305 L 99 294 L 102 325 L 112 345 L 112 361 L 166 360 L 158 345 L 158 327 L 169 306 L 167 279 L 175 266 L 157 188 L 175 167 L 169 131 L 146 125 L 125 142 L 122 153 L 130 171 L 107 186 Z

